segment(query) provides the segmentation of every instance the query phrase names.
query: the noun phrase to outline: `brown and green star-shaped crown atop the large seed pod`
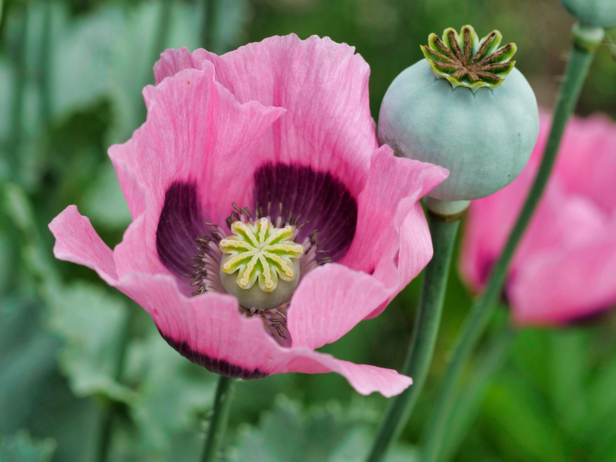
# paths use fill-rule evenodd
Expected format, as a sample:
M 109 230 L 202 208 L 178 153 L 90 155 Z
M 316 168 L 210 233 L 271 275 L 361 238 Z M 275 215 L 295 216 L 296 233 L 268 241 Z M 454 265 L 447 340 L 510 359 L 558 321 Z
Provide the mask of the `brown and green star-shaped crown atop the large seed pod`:
M 446 78 L 454 88 L 469 87 L 474 93 L 480 87 L 495 88 L 503 83 L 516 64 L 510 61 L 516 44 L 498 48 L 501 39 L 501 33 L 494 30 L 479 40 L 474 28 L 466 25 L 460 34 L 453 28 L 445 29 L 442 39 L 430 34 L 428 45 L 421 45 L 421 50 L 437 78 Z

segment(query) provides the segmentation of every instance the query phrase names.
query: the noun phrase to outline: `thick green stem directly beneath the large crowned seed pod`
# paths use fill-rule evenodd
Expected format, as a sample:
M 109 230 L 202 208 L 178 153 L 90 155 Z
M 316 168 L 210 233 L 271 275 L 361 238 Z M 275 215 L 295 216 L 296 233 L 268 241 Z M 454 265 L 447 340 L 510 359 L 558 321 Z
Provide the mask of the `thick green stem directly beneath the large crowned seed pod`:
M 439 332 L 453 243 L 459 225 L 459 220 L 453 222 L 437 221 L 434 218 L 430 220 L 434 256 L 424 271 L 413 334 L 408 346 L 407 359 L 401 371 L 402 374 L 413 378 L 413 385 L 389 401 L 368 462 L 378 462 L 386 456 L 387 449 L 402 432 L 426 381 Z

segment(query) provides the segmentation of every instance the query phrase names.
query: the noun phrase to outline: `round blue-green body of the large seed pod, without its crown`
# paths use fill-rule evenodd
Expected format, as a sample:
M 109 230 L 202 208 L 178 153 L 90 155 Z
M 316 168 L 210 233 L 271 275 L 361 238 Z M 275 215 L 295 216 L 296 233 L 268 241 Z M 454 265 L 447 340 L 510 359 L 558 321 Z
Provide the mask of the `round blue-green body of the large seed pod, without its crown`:
M 495 89 L 474 94 L 437 79 L 424 59 L 387 89 L 378 136 L 398 156 L 447 168 L 430 197 L 473 200 L 511 183 L 530 158 L 539 133 L 535 94 L 514 68 Z

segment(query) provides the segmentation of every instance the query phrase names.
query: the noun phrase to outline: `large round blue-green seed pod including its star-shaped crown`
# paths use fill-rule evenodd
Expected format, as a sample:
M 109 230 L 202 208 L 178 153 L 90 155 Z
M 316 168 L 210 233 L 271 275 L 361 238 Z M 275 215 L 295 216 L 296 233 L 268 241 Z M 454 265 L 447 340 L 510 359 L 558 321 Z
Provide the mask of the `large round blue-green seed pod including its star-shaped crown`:
M 447 168 L 430 197 L 445 201 L 488 196 L 522 171 L 539 133 L 535 94 L 510 61 L 516 46 L 501 34 L 479 40 L 472 26 L 430 34 L 426 59 L 387 89 L 378 136 L 398 156 Z M 505 79 L 506 76 L 506 79 Z

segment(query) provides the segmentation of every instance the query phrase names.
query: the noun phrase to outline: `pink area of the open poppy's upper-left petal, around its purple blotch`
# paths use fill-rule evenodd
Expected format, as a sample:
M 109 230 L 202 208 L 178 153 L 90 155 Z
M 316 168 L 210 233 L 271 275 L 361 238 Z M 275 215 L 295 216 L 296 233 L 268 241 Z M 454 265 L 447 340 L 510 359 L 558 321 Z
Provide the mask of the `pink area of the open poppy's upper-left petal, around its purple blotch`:
M 169 186 L 195 183 L 203 219 L 224 222 L 231 203 L 251 192 L 257 145 L 284 110 L 238 103 L 214 81 L 211 63 L 145 87 L 144 97 L 147 121 L 128 142 L 111 146 L 109 155 L 133 214 L 147 203 L 144 234 L 132 240 L 144 239 L 148 254 L 118 262 L 118 268 L 166 272 L 156 254 L 156 227 Z M 144 261 L 153 266 L 143 267 Z

